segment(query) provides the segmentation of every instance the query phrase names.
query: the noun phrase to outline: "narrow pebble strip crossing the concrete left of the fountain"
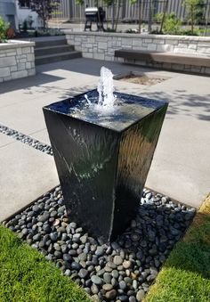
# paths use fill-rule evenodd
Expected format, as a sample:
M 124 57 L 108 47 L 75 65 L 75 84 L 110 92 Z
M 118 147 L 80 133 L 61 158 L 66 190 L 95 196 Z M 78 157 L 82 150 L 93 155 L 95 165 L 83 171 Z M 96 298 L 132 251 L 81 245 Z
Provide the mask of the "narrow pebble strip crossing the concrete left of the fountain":
M 35 148 L 36 150 L 43 151 L 46 154 L 52 155 L 52 147 L 49 146 L 46 143 L 41 143 L 37 141 L 36 139 L 28 136 L 28 135 L 23 135 L 22 133 L 13 130 L 9 127 L 5 127 L 3 125 L 0 125 L 0 133 L 8 136 L 12 136 L 15 140 L 21 142 L 21 143 L 26 143 L 29 146 Z

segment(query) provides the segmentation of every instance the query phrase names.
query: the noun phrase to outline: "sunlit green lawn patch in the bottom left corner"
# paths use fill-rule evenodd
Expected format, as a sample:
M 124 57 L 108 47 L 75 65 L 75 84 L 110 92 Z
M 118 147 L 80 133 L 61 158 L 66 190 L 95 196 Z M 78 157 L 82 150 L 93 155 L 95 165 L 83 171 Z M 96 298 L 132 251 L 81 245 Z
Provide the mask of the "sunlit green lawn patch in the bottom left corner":
M 90 299 L 37 250 L 0 225 L 0 301 L 90 302 Z

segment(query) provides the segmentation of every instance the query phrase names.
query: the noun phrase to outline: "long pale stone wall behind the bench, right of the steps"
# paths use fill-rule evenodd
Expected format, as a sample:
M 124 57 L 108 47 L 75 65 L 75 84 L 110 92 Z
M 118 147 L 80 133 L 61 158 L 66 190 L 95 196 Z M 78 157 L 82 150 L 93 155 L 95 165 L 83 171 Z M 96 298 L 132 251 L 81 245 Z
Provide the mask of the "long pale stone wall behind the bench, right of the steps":
M 139 35 L 103 32 L 73 32 L 64 30 L 69 45 L 74 45 L 77 51 L 83 52 L 83 57 L 104 61 L 124 61 L 115 58 L 115 50 L 133 49 L 150 52 L 192 53 L 210 57 L 210 37 L 185 37 L 162 35 Z M 129 61 L 131 63 L 141 63 Z M 209 73 L 210 69 L 199 66 L 183 66 L 181 64 L 155 63 L 155 67 L 166 69 L 181 69 L 192 72 Z

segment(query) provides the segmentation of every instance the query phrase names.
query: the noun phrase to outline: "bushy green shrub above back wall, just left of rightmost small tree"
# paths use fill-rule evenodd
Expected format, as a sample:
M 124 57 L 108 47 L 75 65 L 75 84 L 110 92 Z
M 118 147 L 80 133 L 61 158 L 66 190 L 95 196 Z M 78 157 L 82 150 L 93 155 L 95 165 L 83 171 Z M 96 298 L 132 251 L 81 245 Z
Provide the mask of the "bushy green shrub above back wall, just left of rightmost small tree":
M 163 13 L 158 13 L 155 16 L 157 22 L 161 22 L 163 20 Z M 162 25 L 162 30 L 165 34 L 174 34 L 180 32 L 180 27 L 182 25 L 181 20 L 177 19 L 174 12 L 172 13 L 166 13 L 165 18 Z

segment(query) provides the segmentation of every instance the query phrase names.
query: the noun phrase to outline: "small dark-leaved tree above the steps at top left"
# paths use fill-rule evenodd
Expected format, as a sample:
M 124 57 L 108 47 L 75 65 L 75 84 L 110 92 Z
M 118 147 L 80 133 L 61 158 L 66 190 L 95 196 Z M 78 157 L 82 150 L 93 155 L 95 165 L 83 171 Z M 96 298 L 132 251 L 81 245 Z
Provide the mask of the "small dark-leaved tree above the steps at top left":
M 52 18 L 52 12 L 57 10 L 59 4 L 60 0 L 30 0 L 30 9 L 43 20 L 43 27 L 46 29 L 48 20 Z

